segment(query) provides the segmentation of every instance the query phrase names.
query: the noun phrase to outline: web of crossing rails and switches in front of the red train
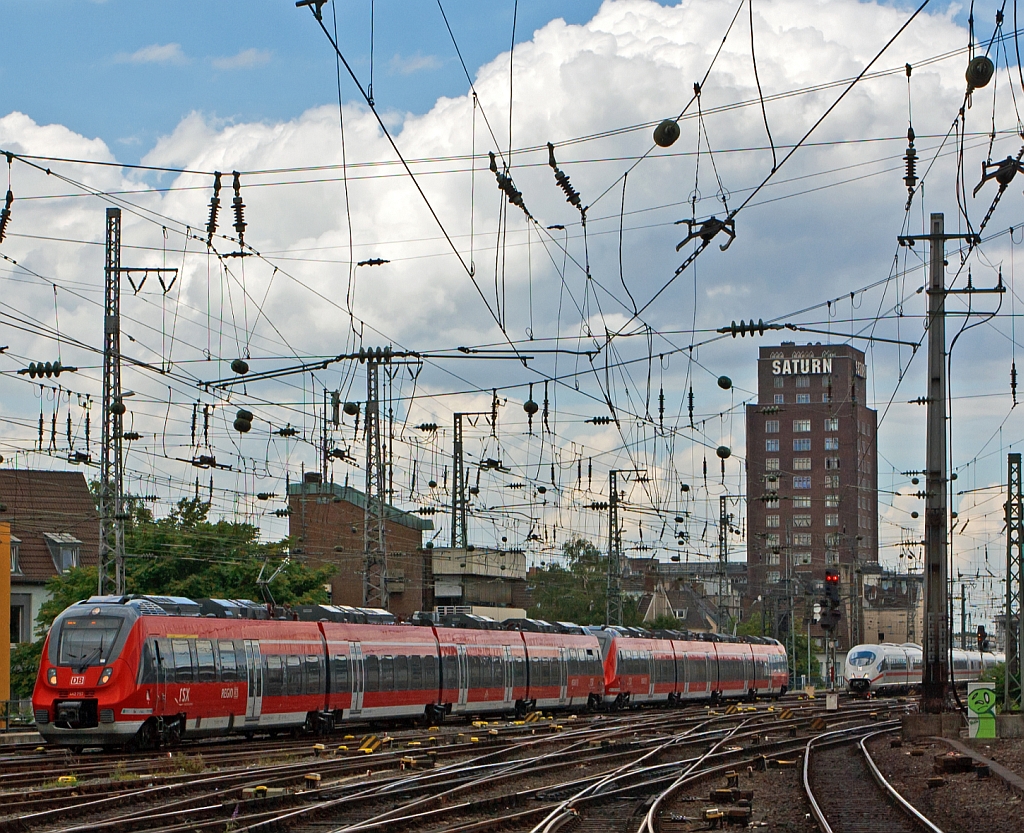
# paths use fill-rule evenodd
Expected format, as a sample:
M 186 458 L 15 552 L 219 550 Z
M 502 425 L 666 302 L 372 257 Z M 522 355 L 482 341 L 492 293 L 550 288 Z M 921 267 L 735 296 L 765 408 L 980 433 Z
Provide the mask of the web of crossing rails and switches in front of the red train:
M 896 707 L 846 704 L 829 721 L 865 722 Z M 117 756 L 85 755 L 77 760 L 105 765 L 108 778 L 59 789 L 8 790 L 0 794 L 0 831 L 495 833 L 534 829 L 559 810 L 560 824 L 578 830 L 633 831 L 681 773 L 697 779 L 716 767 L 796 754 L 822 709 L 805 701 L 730 711 L 446 726 L 435 747 L 414 745 L 422 743 L 422 733 L 395 733 L 390 748 L 372 755 L 329 748 L 316 757 L 308 739 L 262 748 L 236 742 L 228 745 L 233 750 L 204 749 L 202 772 L 168 773 L 166 754 L 136 759 L 140 769 L 146 763 L 153 768 L 125 782 L 109 778 Z M 479 743 L 469 742 L 470 736 Z M 268 760 L 271 750 L 280 760 Z M 254 757 L 261 760 L 254 763 Z M 310 785 L 305 777 L 312 772 L 318 781 Z M 0 793 L 4 787 L 0 782 Z

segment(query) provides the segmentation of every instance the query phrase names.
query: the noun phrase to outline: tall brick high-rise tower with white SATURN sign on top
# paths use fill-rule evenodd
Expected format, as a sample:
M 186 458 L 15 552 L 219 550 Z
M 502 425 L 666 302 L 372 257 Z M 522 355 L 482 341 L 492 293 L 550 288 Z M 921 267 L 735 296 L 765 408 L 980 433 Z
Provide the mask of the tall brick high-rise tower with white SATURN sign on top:
M 866 377 L 864 353 L 849 345 L 760 348 L 758 402 L 746 406 L 748 597 L 878 561 Z

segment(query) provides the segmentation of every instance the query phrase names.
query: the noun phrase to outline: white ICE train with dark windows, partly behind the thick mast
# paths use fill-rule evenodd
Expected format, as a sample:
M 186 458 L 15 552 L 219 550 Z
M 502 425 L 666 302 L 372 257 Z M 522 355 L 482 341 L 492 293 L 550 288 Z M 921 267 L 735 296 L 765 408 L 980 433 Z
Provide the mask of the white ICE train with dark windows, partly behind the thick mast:
M 921 685 L 923 656 L 921 645 L 915 642 L 883 642 L 851 648 L 846 657 L 847 688 L 851 694 L 862 696 L 908 692 Z M 965 685 L 1005 660 L 1002 654 L 989 651 L 953 649 L 953 681 L 956 685 Z

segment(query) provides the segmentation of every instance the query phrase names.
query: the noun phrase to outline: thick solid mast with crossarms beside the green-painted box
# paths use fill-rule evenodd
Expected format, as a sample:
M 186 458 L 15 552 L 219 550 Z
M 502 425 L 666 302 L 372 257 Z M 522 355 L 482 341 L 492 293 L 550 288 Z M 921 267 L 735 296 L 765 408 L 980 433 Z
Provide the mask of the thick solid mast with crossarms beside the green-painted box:
M 938 714 L 946 707 L 949 690 L 949 590 L 947 580 L 946 489 L 946 295 L 953 292 L 1001 291 L 946 290 L 945 242 L 979 242 L 977 235 L 947 235 L 945 217 L 931 215 L 930 234 L 901 237 L 901 246 L 929 241 L 928 279 L 928 406 L 925 466 L 925 632 L 921 710 Z

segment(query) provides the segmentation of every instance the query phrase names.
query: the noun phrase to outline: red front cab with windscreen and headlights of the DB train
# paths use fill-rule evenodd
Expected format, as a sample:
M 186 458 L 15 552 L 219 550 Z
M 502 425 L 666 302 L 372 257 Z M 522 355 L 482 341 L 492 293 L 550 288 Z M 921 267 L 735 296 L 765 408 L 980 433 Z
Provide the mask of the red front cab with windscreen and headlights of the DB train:
M 127 743 L 144 722 L 133 702 L 137 611 L 79 602 L 53 622 L 43 644 L 32 702 L 39 734 L 63 746 Z M 127 648 L 126 648 L 127 645 Z

